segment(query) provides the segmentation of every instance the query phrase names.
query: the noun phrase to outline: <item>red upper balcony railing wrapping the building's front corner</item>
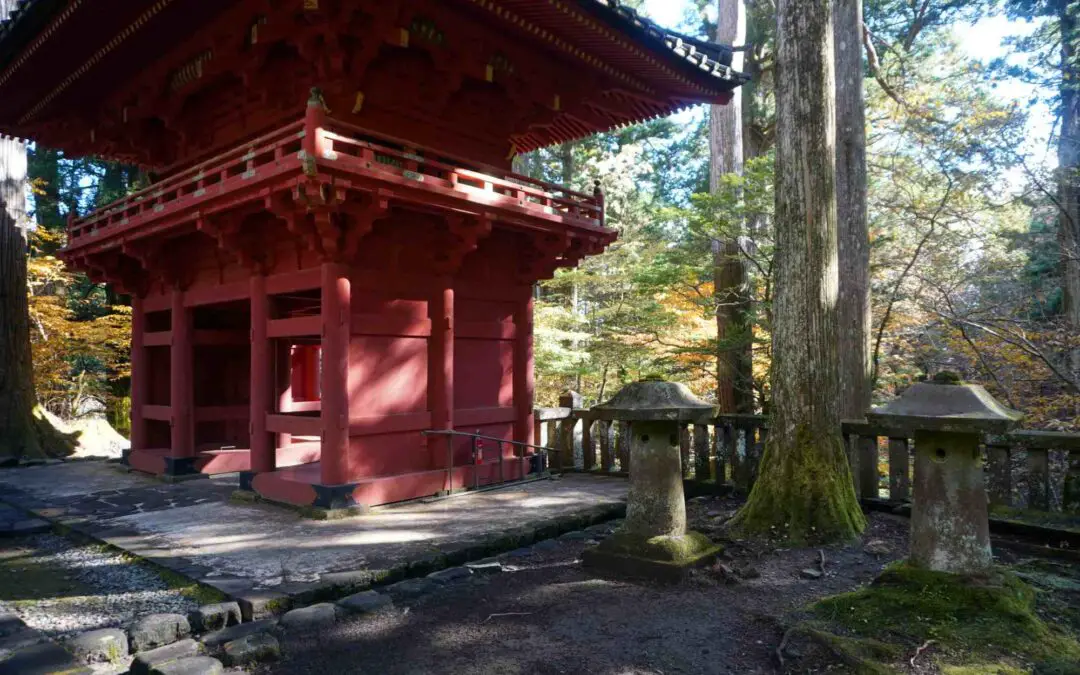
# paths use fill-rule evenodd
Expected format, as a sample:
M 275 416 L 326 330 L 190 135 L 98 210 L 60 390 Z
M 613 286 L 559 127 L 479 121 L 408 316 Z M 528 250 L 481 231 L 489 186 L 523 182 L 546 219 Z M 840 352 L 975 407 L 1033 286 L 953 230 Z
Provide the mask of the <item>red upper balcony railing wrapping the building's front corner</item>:
M 185 219 L 230 207 L 238 192 L 254 192 L 272 186 L 274 180 L 301 176 L 308 159 L 305 147 L 312 146 L 319 148 L 315 162 L 320 172 L 343 172 L 374 185 L 401 186 L 414 194 L 414 201 L 422 201 L 429 193 L 432 199 L 464 200 L 483 208 L 566 225 L 604 226 L 599 189 L 594 194 L 577 192 L 332 118 L 313 132 L 318 141 L 306 144 L 309 130 L 303 121 L 294 122 L 178 171 L 85 217 L 71 218 L 68 249 L 146 227 L 167 229 Z

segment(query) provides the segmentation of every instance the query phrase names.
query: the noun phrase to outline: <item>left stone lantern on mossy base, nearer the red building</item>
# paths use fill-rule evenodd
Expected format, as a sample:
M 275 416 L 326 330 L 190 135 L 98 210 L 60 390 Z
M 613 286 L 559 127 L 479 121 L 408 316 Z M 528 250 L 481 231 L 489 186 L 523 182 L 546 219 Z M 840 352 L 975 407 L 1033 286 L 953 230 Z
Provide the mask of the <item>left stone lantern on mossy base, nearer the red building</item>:
M 593 413 L 630 422 L 630 496 L 622 527 L 583 553 L 585 566 L 677 581 L 711 562 L 720 546 L 686 529 L 679 426 L 707 423 L 716 409 L 685 384 L 649 379 L 627 384 Z

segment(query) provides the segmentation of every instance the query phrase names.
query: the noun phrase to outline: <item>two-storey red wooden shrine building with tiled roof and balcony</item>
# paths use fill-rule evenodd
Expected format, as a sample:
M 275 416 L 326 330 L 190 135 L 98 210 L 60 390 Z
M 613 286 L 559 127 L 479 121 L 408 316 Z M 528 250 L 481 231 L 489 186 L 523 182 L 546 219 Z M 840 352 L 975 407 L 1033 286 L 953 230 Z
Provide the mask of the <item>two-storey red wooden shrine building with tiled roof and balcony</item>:
M 422 433 L 532 441 L 532 286 L 616 237 L 512 158 L 743 81 L 618 0 L 107 4 L 0 27 L 0 133 L 152 172 L 63 252 L 132 296 L 131 467 L 295 504 L 530 471 Z

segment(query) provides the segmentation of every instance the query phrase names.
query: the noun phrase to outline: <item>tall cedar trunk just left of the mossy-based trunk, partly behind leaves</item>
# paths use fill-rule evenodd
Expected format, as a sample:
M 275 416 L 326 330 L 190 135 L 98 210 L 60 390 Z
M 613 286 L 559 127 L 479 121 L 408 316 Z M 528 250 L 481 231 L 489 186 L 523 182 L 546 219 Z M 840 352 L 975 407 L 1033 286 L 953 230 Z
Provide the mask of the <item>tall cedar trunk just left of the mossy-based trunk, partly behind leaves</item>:
M 745 39 L 743 0 L 718 0 L 719 21 L 716 40 L 721 44 L 742 44 Z M 742 69 L 743 56 L 732 59 Z M 743 129 L 742 92 L 735 90 L 727 106 L 713 106 L 708 144 L 710 189 L 715 192 L 725 174 L 742 175 Z M 750 326 L 750 279 L 746 261 L 739 249 L 739 235 L 713 241 L 713 269 L 716 300 L 716 401 L 721 413 L 753 413 L 753 343 Z

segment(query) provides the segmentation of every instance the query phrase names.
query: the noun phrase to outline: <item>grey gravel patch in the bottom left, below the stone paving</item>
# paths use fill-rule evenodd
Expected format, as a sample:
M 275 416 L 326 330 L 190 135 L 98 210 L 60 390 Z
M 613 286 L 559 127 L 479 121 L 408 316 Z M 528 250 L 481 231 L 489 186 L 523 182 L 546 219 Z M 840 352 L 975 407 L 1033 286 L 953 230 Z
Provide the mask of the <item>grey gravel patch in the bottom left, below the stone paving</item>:
M 54 638 L 197 607 L 152 568 L 56 535 L 4 541 L 0 559 L 0 609 Z

